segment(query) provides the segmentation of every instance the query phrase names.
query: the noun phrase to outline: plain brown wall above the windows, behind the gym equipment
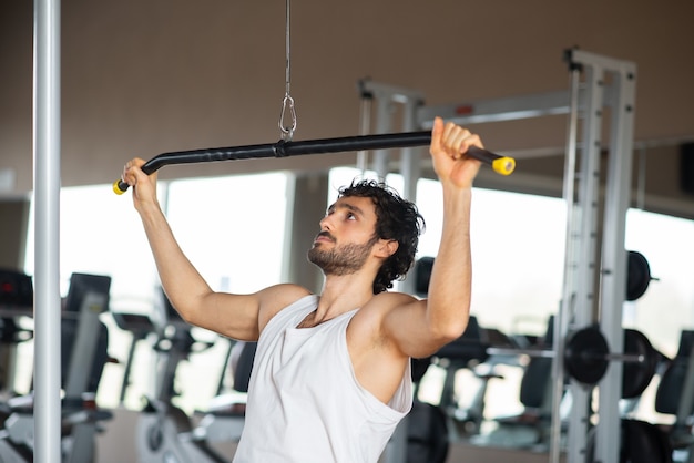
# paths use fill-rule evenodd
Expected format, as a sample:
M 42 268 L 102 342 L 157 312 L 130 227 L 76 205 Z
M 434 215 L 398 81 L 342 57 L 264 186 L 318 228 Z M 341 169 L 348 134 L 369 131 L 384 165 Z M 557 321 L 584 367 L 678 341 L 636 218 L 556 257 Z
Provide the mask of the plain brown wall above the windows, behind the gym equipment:
M 14 192 L 32 188 L 32 14 L 31 2 L 0 2 L 0 171 L 16 172 Z M 693 18 L 688 0 L 295 1 L 295 140 L 356 134 L 359 79 L 419 90 L 430 105 L 549 92 L 568 89 L 562 52 L 579 45 L 636 62 L 635 140 L 676 146 L 694 138 Z M 132 156 L 279 140 L 284 25 L 284 2 L 63 1 L 63 185 L 110 183 Z M 497 151 L 565 137 L 561 119 L 478 130 Z M 162 176 L 354 162 L 310 157 Z

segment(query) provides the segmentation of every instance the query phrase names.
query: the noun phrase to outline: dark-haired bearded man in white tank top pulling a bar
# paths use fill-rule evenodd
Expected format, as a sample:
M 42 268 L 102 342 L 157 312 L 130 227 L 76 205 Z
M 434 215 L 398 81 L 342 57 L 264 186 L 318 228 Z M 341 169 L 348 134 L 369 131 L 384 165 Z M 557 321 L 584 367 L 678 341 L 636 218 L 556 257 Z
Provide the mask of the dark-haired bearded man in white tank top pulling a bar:
M 410 359 L 436 352 L 468 323 L 471 189 L 480 168 L 465 155 L 471 145 L 482 147 L 478 135 L 435 120 L 430 154 L 443 228 L 427 300 L 385 291 L 411 266 L 421 225 L 416 207 L 387 188 L 353 184 L 320 220 L 308 254 L 325 274 L 320 295 L 290 284 L 229 295 L 213 291 L 178 247 L 156 200 L 156 175 L 141 171 L 142 160 L 125 165 L 172 305 L 192 325 L 258 341 L 234 462 L 378 460 L 411 408 Z M 400 225 L 384 229 L 385 215 Z

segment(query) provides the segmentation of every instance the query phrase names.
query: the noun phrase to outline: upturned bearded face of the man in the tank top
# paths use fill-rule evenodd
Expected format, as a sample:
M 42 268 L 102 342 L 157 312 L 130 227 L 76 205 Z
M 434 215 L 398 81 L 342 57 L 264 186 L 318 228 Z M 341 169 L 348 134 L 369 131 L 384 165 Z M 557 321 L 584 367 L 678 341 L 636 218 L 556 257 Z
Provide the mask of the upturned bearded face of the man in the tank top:
M 320 233 L 308 250 L 308 260 L 325 275 L 354 274 L 364 266 L 378 241 L 375 229 L 376 208 L 370 198 L 340 198 L 320 220 Z

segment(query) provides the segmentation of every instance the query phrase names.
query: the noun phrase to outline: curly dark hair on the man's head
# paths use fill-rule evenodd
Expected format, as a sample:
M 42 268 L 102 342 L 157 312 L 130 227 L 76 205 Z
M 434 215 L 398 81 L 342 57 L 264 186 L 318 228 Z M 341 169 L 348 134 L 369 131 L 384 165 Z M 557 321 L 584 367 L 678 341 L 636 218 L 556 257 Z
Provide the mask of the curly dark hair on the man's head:
M 381 239 L 398 241 L 398 250 L 378 270 L 374 280 L 374 294 L 392 288 L 395 279 L 402 279 L 415 261 L 419 235 L 425 219 L 417 206 L 382 182 L 374 179 L 353 181 L 338 191 L 338 197 L 369 197 L 376 206 L 376 232 Z

